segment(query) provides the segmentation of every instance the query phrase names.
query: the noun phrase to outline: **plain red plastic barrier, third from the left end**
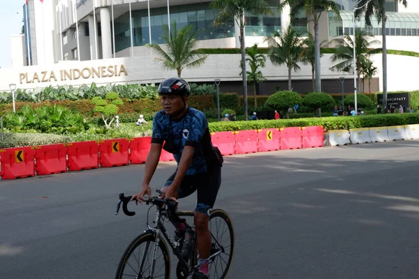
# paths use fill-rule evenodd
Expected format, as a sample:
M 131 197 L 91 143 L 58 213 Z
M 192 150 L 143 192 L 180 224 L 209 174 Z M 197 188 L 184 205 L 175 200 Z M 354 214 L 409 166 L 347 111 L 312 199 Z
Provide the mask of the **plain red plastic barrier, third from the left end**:
M 69 171 L 97 169 L 99 167 L 99 145 L 97 141 L 68 143 L 67 155 Z

